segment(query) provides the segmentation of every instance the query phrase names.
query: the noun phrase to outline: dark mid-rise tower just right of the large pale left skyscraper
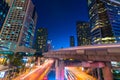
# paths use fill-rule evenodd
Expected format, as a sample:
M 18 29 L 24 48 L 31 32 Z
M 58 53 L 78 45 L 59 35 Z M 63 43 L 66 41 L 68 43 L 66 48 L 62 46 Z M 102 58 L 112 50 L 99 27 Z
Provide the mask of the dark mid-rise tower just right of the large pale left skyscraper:
M 48 31 L 47 28 L 40 27 L 36 34 L 36 51 L 42 54 L 47 51 Z

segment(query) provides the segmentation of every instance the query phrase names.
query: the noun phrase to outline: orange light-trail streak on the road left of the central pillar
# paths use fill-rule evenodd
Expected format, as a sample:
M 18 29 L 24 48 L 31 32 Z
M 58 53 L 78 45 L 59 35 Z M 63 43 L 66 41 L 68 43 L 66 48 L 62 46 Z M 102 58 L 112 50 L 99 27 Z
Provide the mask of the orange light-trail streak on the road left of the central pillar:
M 44 76 L 49 72 L 54 60 L 46 60 L 44 64 L 36 66 L 35 69 L 28 73 L 24 73 L 13 80 L 42 80 Z

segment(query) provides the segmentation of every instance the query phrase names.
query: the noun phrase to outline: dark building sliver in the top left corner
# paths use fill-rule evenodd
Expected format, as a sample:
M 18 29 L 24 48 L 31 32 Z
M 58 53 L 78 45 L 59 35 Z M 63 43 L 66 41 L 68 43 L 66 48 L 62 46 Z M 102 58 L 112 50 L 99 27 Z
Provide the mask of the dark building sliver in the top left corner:
M 0 0 L 0 31 L 8 13 L 9 6 L 4 0 Z

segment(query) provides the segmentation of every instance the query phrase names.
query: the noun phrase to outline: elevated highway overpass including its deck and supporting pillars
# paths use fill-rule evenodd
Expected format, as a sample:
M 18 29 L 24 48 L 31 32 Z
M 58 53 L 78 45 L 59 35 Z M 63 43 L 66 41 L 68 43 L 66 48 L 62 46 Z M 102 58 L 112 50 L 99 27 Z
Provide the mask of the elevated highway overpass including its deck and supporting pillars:
M 83 67 L 97 68 L 98 80 L 101 80 L 100 70 L 104 80 L 113 80 L 111 61 L 120 62 L 120 44 L 90 45 L 70 47 L 43 54 L 46 58 L 54 58 L 56 80 L 64 80 L 65 60 L 79 60 Z

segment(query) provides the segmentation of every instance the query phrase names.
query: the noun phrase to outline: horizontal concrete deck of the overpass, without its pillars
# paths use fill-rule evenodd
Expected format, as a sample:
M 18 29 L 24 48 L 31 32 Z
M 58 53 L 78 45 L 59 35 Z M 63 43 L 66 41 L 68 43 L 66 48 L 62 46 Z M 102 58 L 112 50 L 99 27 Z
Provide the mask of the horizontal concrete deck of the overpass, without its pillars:
M 50 51 L 45 57 L 82 61 L 120 61 L 120 44 L 79 46 Z

